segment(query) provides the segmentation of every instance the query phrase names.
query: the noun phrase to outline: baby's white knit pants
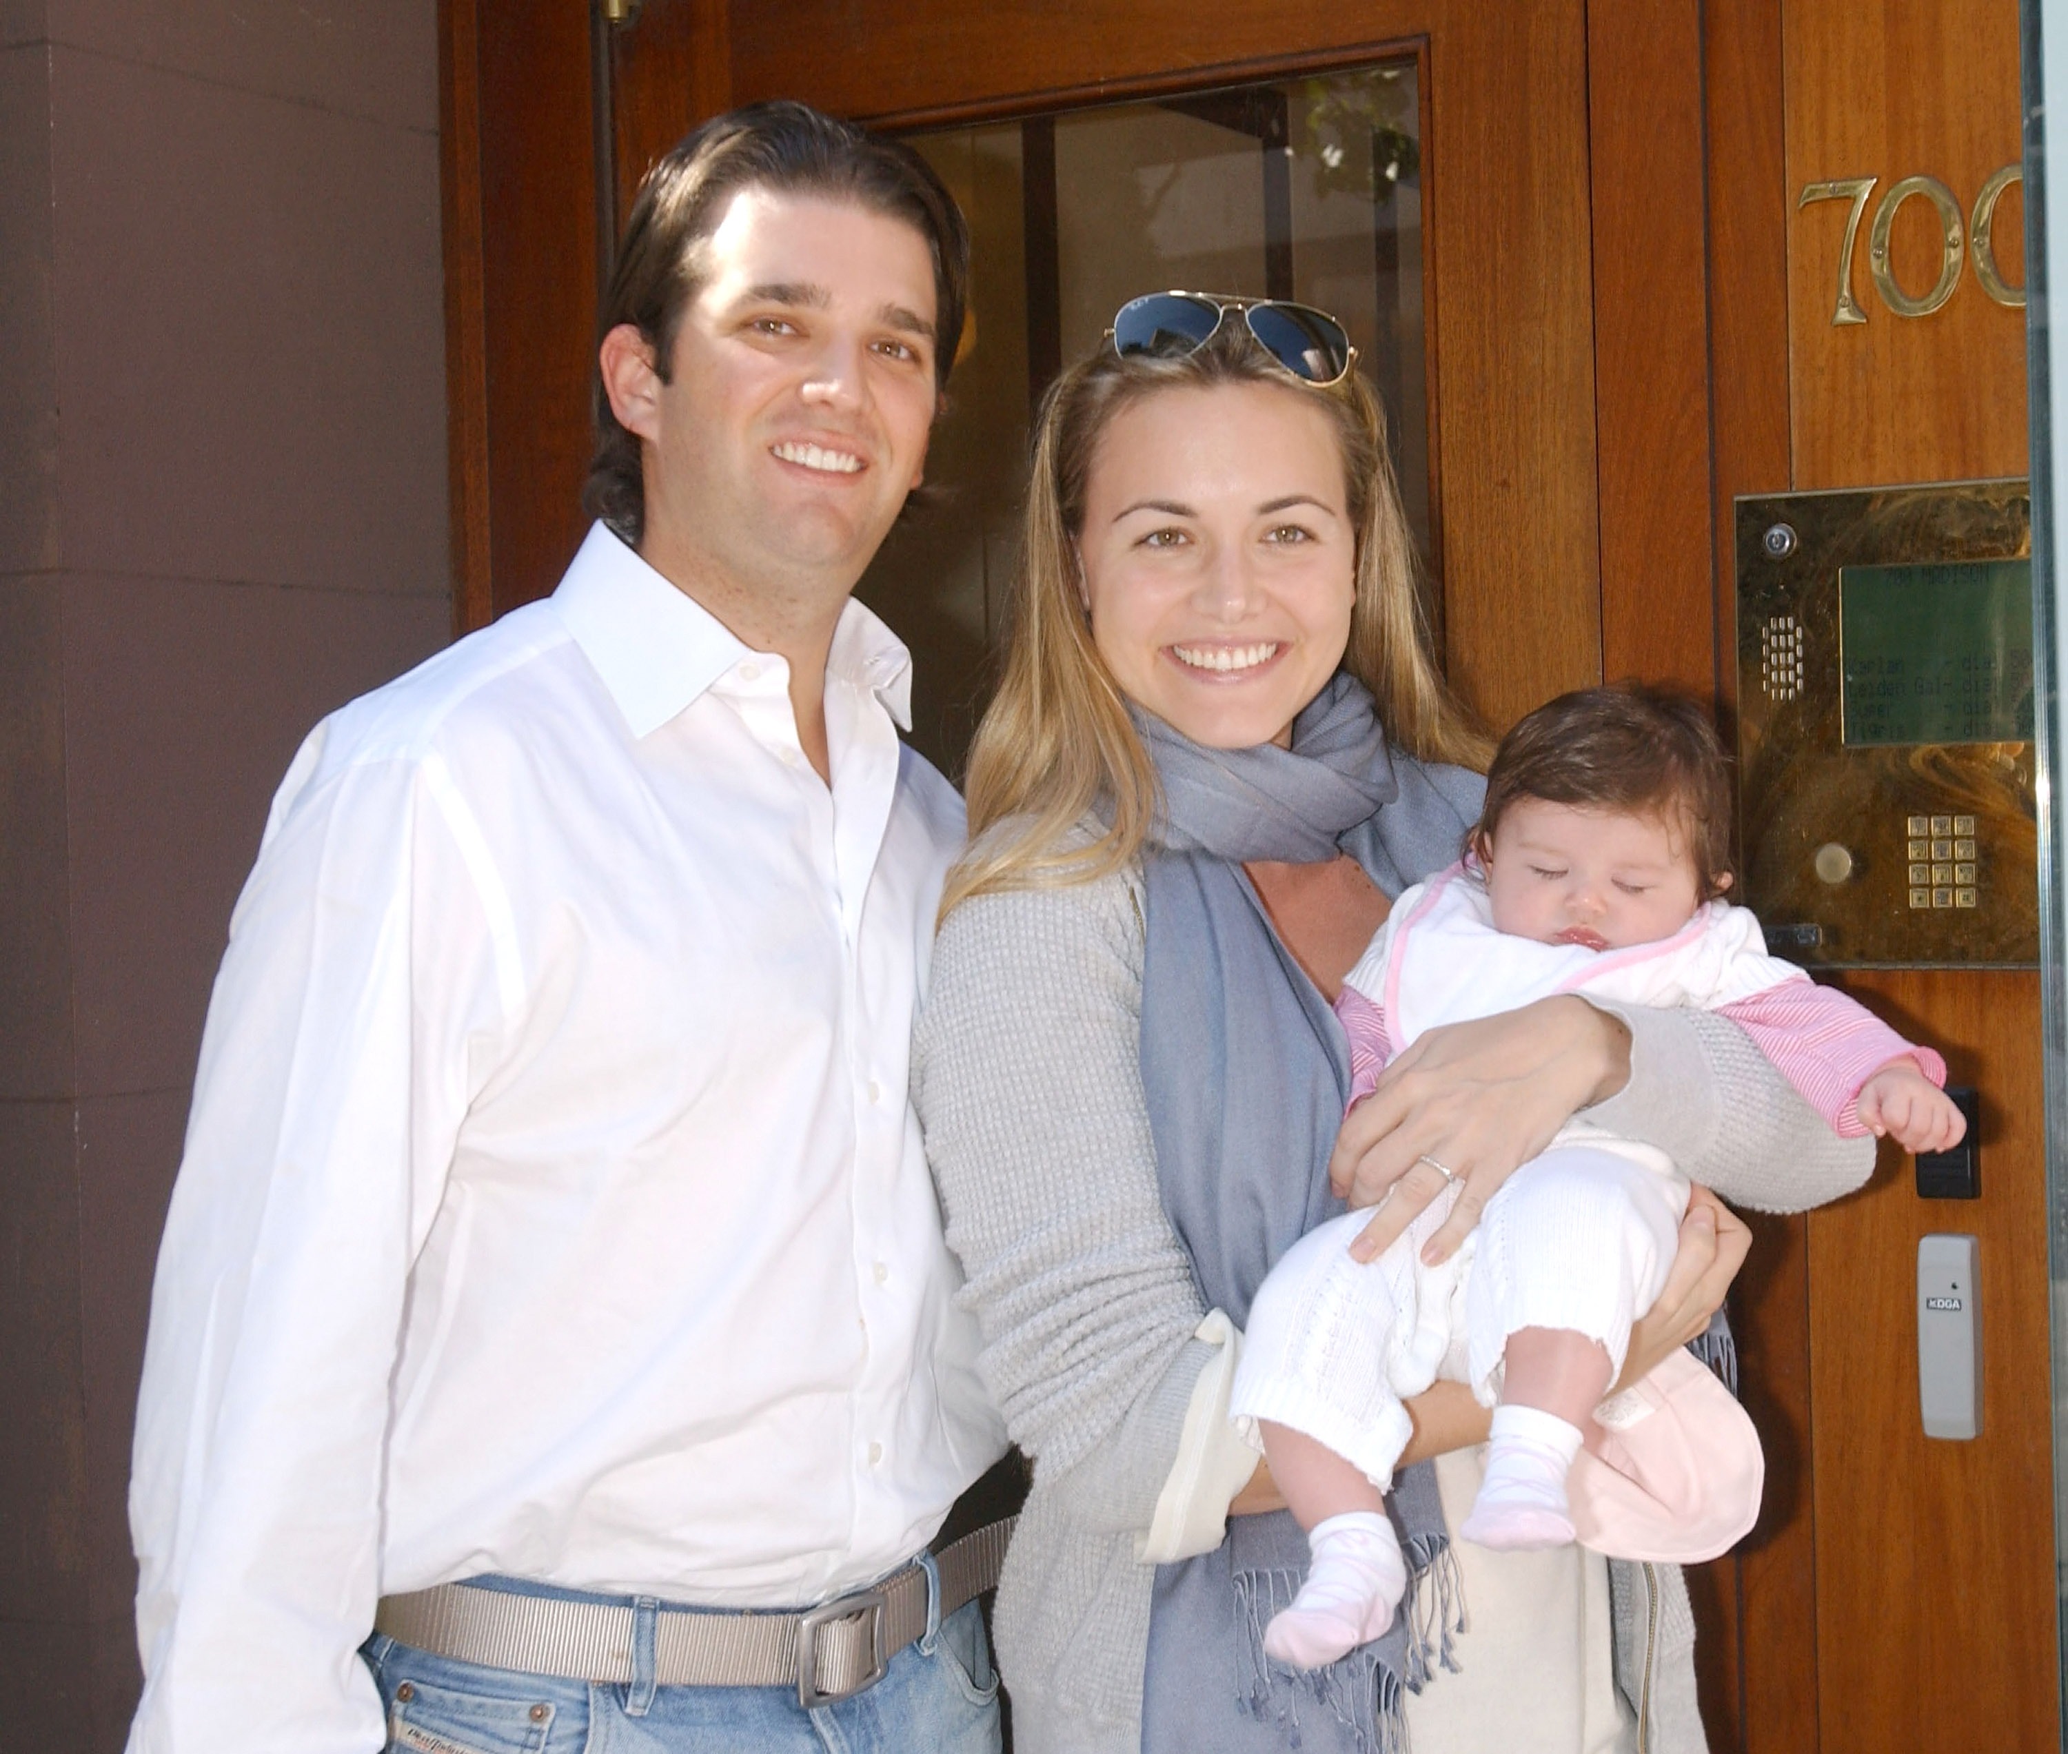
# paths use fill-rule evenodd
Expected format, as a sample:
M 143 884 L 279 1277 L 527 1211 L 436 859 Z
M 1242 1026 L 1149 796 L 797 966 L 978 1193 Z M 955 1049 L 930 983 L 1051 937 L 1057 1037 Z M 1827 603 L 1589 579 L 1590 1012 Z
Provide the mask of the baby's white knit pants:
M 1441 1373 L 1491 1407 L 1518 1328 L 1586 1334 L 1611 1380 L 1621 1371 L 1630 1324 L 1673 1266 L 1687 1183 L 1613 1142 L 1555 1144 L 1508 1177 L 1452 1260 L 1425 1266 L 1454 1198 L 1369 1266 L 1348 1249 L 1371 1212 L 1286 1249 L 1249 1305 L 1228 1402 L 1245 1431 L 1259 1419 L 1305 1431 L 1383 1491 L 1412 1429 L 1400 1402 Z

